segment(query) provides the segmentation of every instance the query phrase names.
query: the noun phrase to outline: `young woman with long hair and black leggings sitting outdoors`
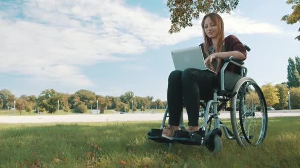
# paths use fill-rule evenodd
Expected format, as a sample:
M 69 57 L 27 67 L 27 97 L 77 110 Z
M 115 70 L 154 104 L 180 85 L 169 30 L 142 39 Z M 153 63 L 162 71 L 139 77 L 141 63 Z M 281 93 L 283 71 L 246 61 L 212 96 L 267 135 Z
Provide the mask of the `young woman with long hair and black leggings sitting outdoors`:
M 224 38 L 224 23 L 220 15 L 217 13 L 205 15 L 201 26 L 204 43 L 200 46 L 205 63 L 218 75 L 209 70 L 195 68 L 188 68 L 184 71 L 175 70 L 170 73 L 167 93 L 169 126 L 163 130 L 162 137 L 174 137 L 174 132 L 179 129 L 183 98 L 188 113 L 188 129 L 186 131 L 198 131 L 200 100 L 211 100 L 213 90 L 219 87 L 218 78 L 222 59 L 228 56 L 234 56 L 240 60 L 246 59 L 244 45 L 234 35 Z M 235 72 L 236 67 L 229 64 L 226 70 Z

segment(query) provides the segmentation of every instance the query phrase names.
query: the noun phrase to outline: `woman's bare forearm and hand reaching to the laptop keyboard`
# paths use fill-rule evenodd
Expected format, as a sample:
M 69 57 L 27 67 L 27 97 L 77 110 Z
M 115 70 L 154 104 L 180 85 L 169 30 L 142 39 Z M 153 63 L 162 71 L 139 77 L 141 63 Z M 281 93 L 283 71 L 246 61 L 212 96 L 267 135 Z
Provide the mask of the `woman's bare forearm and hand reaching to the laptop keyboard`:
M 239 52 L 239 51 L 221 52 L 221 53 L 213 53 L 210 56 L 208 56 L 207 58 L 205 58 L 205 64 L 208 65 L 215 58 L 224 59 L 228 56 L 234 56 L 234 57 L 236 57 L 237 59 L 240 59 L 240 60 L 246 59 L 246 56 L 243 53 Z

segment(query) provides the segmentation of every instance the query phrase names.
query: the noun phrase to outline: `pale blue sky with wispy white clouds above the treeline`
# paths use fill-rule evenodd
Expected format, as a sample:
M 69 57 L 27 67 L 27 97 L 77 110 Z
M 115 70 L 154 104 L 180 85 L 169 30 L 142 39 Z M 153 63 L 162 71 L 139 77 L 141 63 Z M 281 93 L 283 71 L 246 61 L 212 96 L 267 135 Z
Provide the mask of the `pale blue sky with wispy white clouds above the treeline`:
M 73 94 L 167 100 L 170 51 L 203 42 L 193 27 L 169 34 L 167 0 L 0 0 L 0 90 L 15 96 L 53 88 Z M 222 14 L 225 36 L 247 44 L 248 77 L 259 85 L 287 82 L 288 58 L 300 56 L 299 22 L 286 0 L 239 0 Z

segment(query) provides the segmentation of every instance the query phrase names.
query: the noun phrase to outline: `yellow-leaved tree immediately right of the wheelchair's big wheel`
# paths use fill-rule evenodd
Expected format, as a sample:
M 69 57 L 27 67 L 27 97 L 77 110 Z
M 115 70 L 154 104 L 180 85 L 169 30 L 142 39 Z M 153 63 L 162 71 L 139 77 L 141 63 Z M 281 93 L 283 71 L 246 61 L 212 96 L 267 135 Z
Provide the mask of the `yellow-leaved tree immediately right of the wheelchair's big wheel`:
M 272 107 L 274 104 L 279 102 L 278 89 L 271 85 L 271 83 L 264 84 L 262 86 L 262 91 L 267 106 Z

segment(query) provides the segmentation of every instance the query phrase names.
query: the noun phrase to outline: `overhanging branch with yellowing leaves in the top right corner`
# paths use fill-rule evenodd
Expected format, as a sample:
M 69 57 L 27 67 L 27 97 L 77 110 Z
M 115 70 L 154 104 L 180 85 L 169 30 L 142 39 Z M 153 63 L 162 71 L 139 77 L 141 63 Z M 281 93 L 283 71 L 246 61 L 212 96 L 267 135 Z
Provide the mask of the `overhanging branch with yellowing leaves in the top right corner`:
M 292 9 L 294 10 L 290 15 L 284 15 L 281 20 L 286 21 L 287 24 L 295 24 L 300 21 L 300 0 L 287 0 L 287 4 L 293 4 Z M 300 31 L 300 28 L 298 29 Z M 295 39 L 300 40 L 300 35 L 297 36 Z

